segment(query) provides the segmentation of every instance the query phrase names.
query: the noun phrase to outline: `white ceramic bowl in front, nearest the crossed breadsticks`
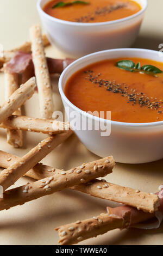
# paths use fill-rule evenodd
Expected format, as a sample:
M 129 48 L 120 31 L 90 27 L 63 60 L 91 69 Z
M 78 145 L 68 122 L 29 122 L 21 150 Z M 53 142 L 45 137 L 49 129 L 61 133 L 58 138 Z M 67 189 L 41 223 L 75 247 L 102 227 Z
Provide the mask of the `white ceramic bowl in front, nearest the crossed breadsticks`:
M 121 163 L 146 163 L 159 160 L 163 157 L 163 121 L 135 124 L 93 117 L 74 106 L 64 94 L 65 84 L 74 72 L 101 60 L 123 57 L 141 57 L 163 62 L 162 53 L 145 49 L 123 48 L 89 54 L 76 60 L 62 72 L 59 80 L 62 102 L 70 112 L 69 117 L 72 111 L 76 111 L 80 114 L 80 118 L 87 117 L 89 121 L 93 118 L 97 122 L 111 123 L 111 135 L 108 137 L 101 137 L 101 130 L 75 131 L 80 141 L 96 155 L 101 157 L 113 155 L 115 160 Z

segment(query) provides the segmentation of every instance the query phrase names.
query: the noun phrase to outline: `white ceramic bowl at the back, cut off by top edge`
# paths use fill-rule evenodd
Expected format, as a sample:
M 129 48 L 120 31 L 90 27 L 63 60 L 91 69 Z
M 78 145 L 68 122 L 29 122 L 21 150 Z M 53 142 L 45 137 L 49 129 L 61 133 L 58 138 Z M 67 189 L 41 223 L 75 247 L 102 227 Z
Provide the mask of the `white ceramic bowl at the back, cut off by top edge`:
M 49 0 L 39 0 L 37 9 L 51 44 L 73 56 L 84 56 L 92 52 L 111 48 L 130 47 L 136 39 L 147 8 L 147 0 L 135 0 L 142 9 L 124 19 L 78 23 L 56 19 L 42 10 Z

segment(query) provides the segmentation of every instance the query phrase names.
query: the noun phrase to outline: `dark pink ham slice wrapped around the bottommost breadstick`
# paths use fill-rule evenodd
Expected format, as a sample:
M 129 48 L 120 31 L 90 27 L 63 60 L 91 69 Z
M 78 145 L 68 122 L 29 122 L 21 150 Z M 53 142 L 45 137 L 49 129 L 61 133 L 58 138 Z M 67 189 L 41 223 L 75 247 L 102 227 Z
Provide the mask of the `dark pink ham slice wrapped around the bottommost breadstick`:
M 129 227 L 140 228 L 140 229 L 159 228 L 163 220 L 163 190 L 156 194 L 158 194 L 160 198 L 160 206 L 159 206 L 159 210 L 156 211 L 154 214 L 138 211 L 136 208 L 133 208 L 127 205 L 116 207 L 116 208 L 107 207 L 108 214 L 110 217 L 115 216 L 117 218 L 122 218 L 123 227 L 126 227 L 126 228 L 129 228 Z M 127 220 L 126 220 L 126 216 L 129 216 Z

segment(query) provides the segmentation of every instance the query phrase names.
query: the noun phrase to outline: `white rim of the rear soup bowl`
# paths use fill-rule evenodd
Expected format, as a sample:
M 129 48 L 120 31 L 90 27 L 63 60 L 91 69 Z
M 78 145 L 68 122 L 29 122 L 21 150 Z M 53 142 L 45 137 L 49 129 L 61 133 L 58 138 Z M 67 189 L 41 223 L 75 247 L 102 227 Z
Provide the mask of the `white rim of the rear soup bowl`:
M 125 17 L 123 19 L 118 19 L 118 20 L 113 20 L 113 21 L 86 23 L 86 22 L 65 21 L 65 20 L 60 20 L 60 19 L 57 19 L 55 17 L 52 17 L 51 15 L 48 15 L 47 13 L 45 13 L 45 11 L 43 11 L 43 9 L 41 8 L 41 2 L 42 1 L 43 0 L 38 0 L 37 1 L 37 10 L 39 11 L 39 13 L 41 13 L 47 19 L 49 19 L 51 21 L 55 21 L 55 22 L 61 23 L 63 25 L 79 26 L 79 27 L 85 27 L 85 26 L 86 27 L 105 26 L 105 25 L 113 25 L 113 24 L 116 24 L 116 23 L 125 22 L 125 21 L 128 21 L 128 20 L 134 19 L 135 17 L 143 14 L 145 12 L 145 10 L 147 9 L 147 5 L 148 5 L 147 0 L 142 0 L 144 2 L 144 6 L 136 14 L 127 16 L 127 17 Z M 134 1 L 137 1 L 137 0 L 134 0 Z

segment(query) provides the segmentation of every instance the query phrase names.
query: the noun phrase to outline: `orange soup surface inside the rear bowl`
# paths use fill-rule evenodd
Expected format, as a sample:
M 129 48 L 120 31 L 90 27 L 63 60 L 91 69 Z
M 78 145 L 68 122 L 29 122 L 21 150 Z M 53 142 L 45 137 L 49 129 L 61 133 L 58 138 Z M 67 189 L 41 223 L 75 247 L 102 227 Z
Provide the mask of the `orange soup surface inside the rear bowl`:
M 53 0 L 43 7 L 45 13 L 60 20 L 73 22 L 104 22 L 122 19 L 141 10 L 141 6 L 130 0 L 86 0 L 89 4 L 72 4 L 55 7 L 59 0 Z M 64 3 L 73 0 L 64 0 Z M 54 8 L 55 7 L 55 8 Z

